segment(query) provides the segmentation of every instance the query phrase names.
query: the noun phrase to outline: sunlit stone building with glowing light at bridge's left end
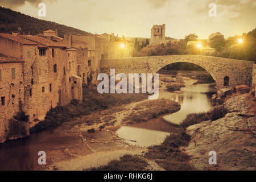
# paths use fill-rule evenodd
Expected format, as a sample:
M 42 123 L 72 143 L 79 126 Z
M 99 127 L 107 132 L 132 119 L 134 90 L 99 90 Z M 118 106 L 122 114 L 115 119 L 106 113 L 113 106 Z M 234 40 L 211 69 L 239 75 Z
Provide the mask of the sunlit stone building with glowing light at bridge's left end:
M 115 59 L 127 58 L 133 55 L 133 42 L 126 40 L 125 36 L 119 38 L 110 34 L 98 35 L 101 39 L 101 58 L 102 59 Z

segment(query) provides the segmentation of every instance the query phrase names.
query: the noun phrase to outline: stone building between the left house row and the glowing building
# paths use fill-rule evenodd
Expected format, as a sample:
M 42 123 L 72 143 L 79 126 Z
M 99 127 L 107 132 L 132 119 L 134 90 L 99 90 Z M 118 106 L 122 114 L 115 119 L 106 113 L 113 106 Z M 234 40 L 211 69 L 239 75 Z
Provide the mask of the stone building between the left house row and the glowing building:
M 59 43 L 77 50 L 77 74 L 86 84 L 97 84 L 100 73 L 101 40 L 97 36 L 64 35 Z

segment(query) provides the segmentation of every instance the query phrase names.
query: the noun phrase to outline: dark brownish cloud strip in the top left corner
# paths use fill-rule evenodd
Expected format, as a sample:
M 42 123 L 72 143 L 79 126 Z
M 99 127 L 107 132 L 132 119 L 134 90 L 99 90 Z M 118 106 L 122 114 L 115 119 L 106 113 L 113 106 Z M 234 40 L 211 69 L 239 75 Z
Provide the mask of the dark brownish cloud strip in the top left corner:
M 50 0 L 50 2 L 56 0 Z M 38 6 L 40 2 L 44 2 L 44 0 L 0 0 L 1 6 L 7 7 L 18 7 L 24 5 L 26 2 L 31 5 Z

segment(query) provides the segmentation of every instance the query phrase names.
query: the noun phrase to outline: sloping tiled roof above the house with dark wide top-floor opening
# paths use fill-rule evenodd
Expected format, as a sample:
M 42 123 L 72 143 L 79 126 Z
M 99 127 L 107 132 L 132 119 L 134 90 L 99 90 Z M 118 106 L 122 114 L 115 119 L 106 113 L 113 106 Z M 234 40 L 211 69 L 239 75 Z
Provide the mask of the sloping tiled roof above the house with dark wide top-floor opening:
M 19 35 L 20 37 L 27 39 L 27 40 L 31 40 L 32 42 L 36 42 L 38 44 L 42 44 L 44 46 L 47 47 L 66 47 L 63 44 L 57 43 L 57 42 L 53 42 L 52 40 L 43 38 L 42 36 L 37 36 L 37 35 Z

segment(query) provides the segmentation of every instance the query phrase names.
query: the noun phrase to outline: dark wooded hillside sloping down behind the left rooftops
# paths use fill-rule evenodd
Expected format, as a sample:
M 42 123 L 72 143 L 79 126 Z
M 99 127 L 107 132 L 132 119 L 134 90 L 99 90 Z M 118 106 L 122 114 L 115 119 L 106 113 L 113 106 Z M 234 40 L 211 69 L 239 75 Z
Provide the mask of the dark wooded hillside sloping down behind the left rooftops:
M 77 28 L 41 20 L 0 6 L 0 32 L 11 33 L 19 27 L 21 28 L 20 34 L 30 32 L 31 35 L 37 35 L 49 29 L 55 31 L 57 28 L 58 35 L 62 38 L 68 32 L 73 35 L 92 35 Z

